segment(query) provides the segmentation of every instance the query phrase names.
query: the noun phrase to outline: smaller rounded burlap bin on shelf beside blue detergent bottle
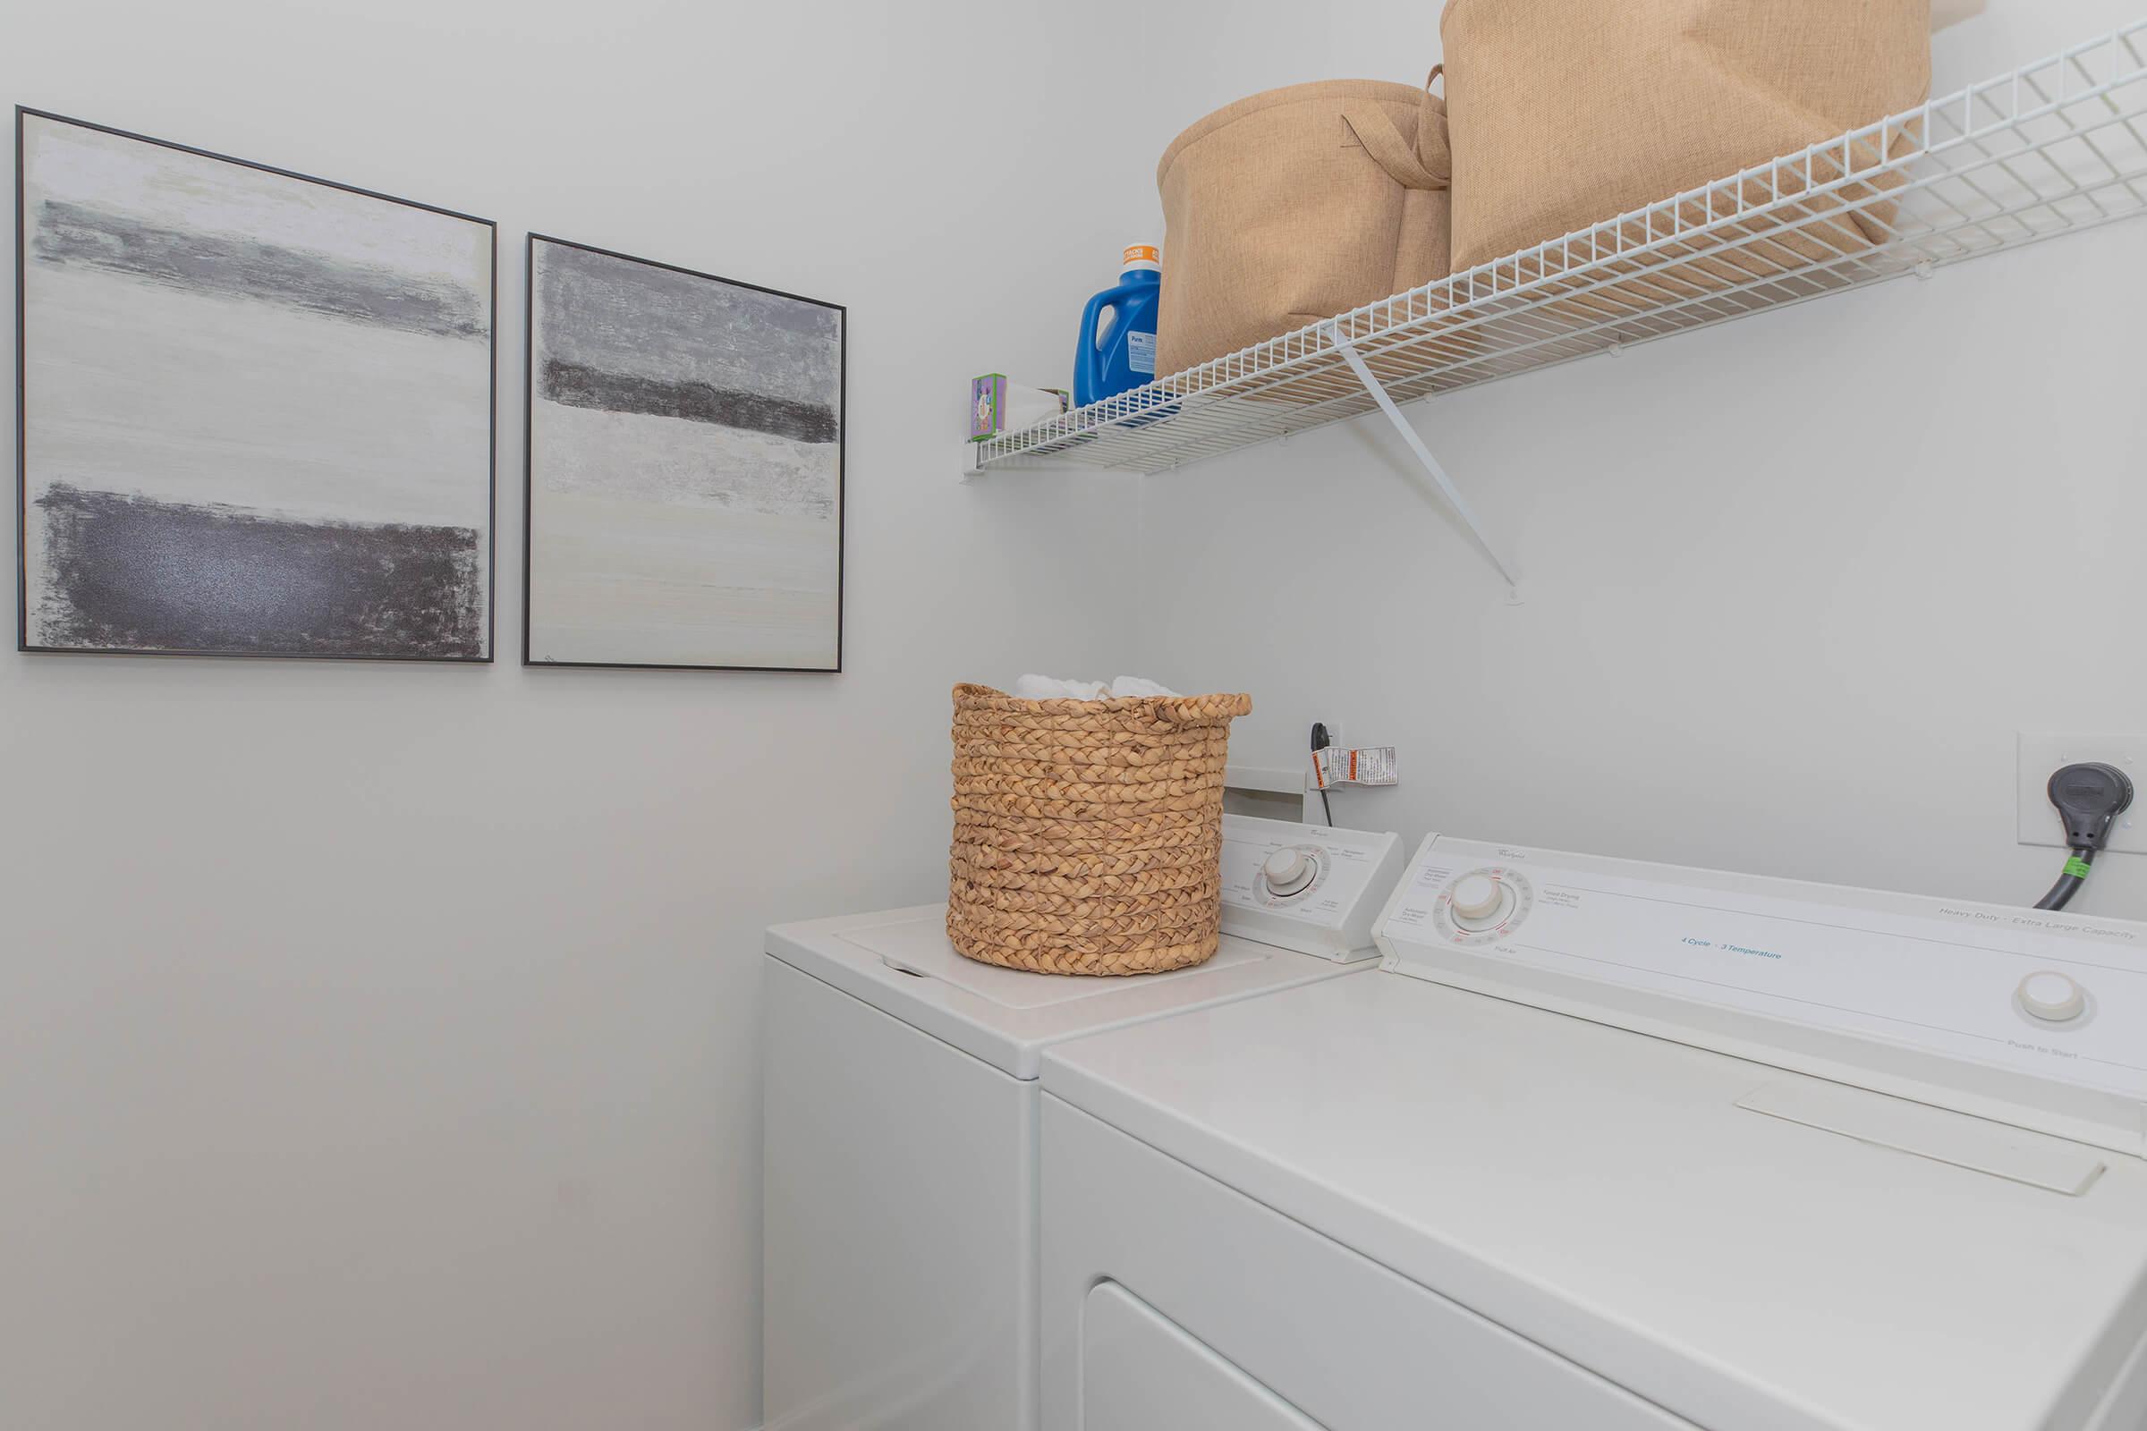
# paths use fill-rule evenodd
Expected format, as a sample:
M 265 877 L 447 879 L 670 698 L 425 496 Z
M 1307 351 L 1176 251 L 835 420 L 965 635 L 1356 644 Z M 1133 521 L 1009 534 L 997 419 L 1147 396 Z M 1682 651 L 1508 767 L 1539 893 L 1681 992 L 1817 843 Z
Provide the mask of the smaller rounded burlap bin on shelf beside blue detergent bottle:
M 1430 88 L 1252 94 L 1164 150 L 1155 371 L 1219 358 L 1447 275 L 1447 122 Z

